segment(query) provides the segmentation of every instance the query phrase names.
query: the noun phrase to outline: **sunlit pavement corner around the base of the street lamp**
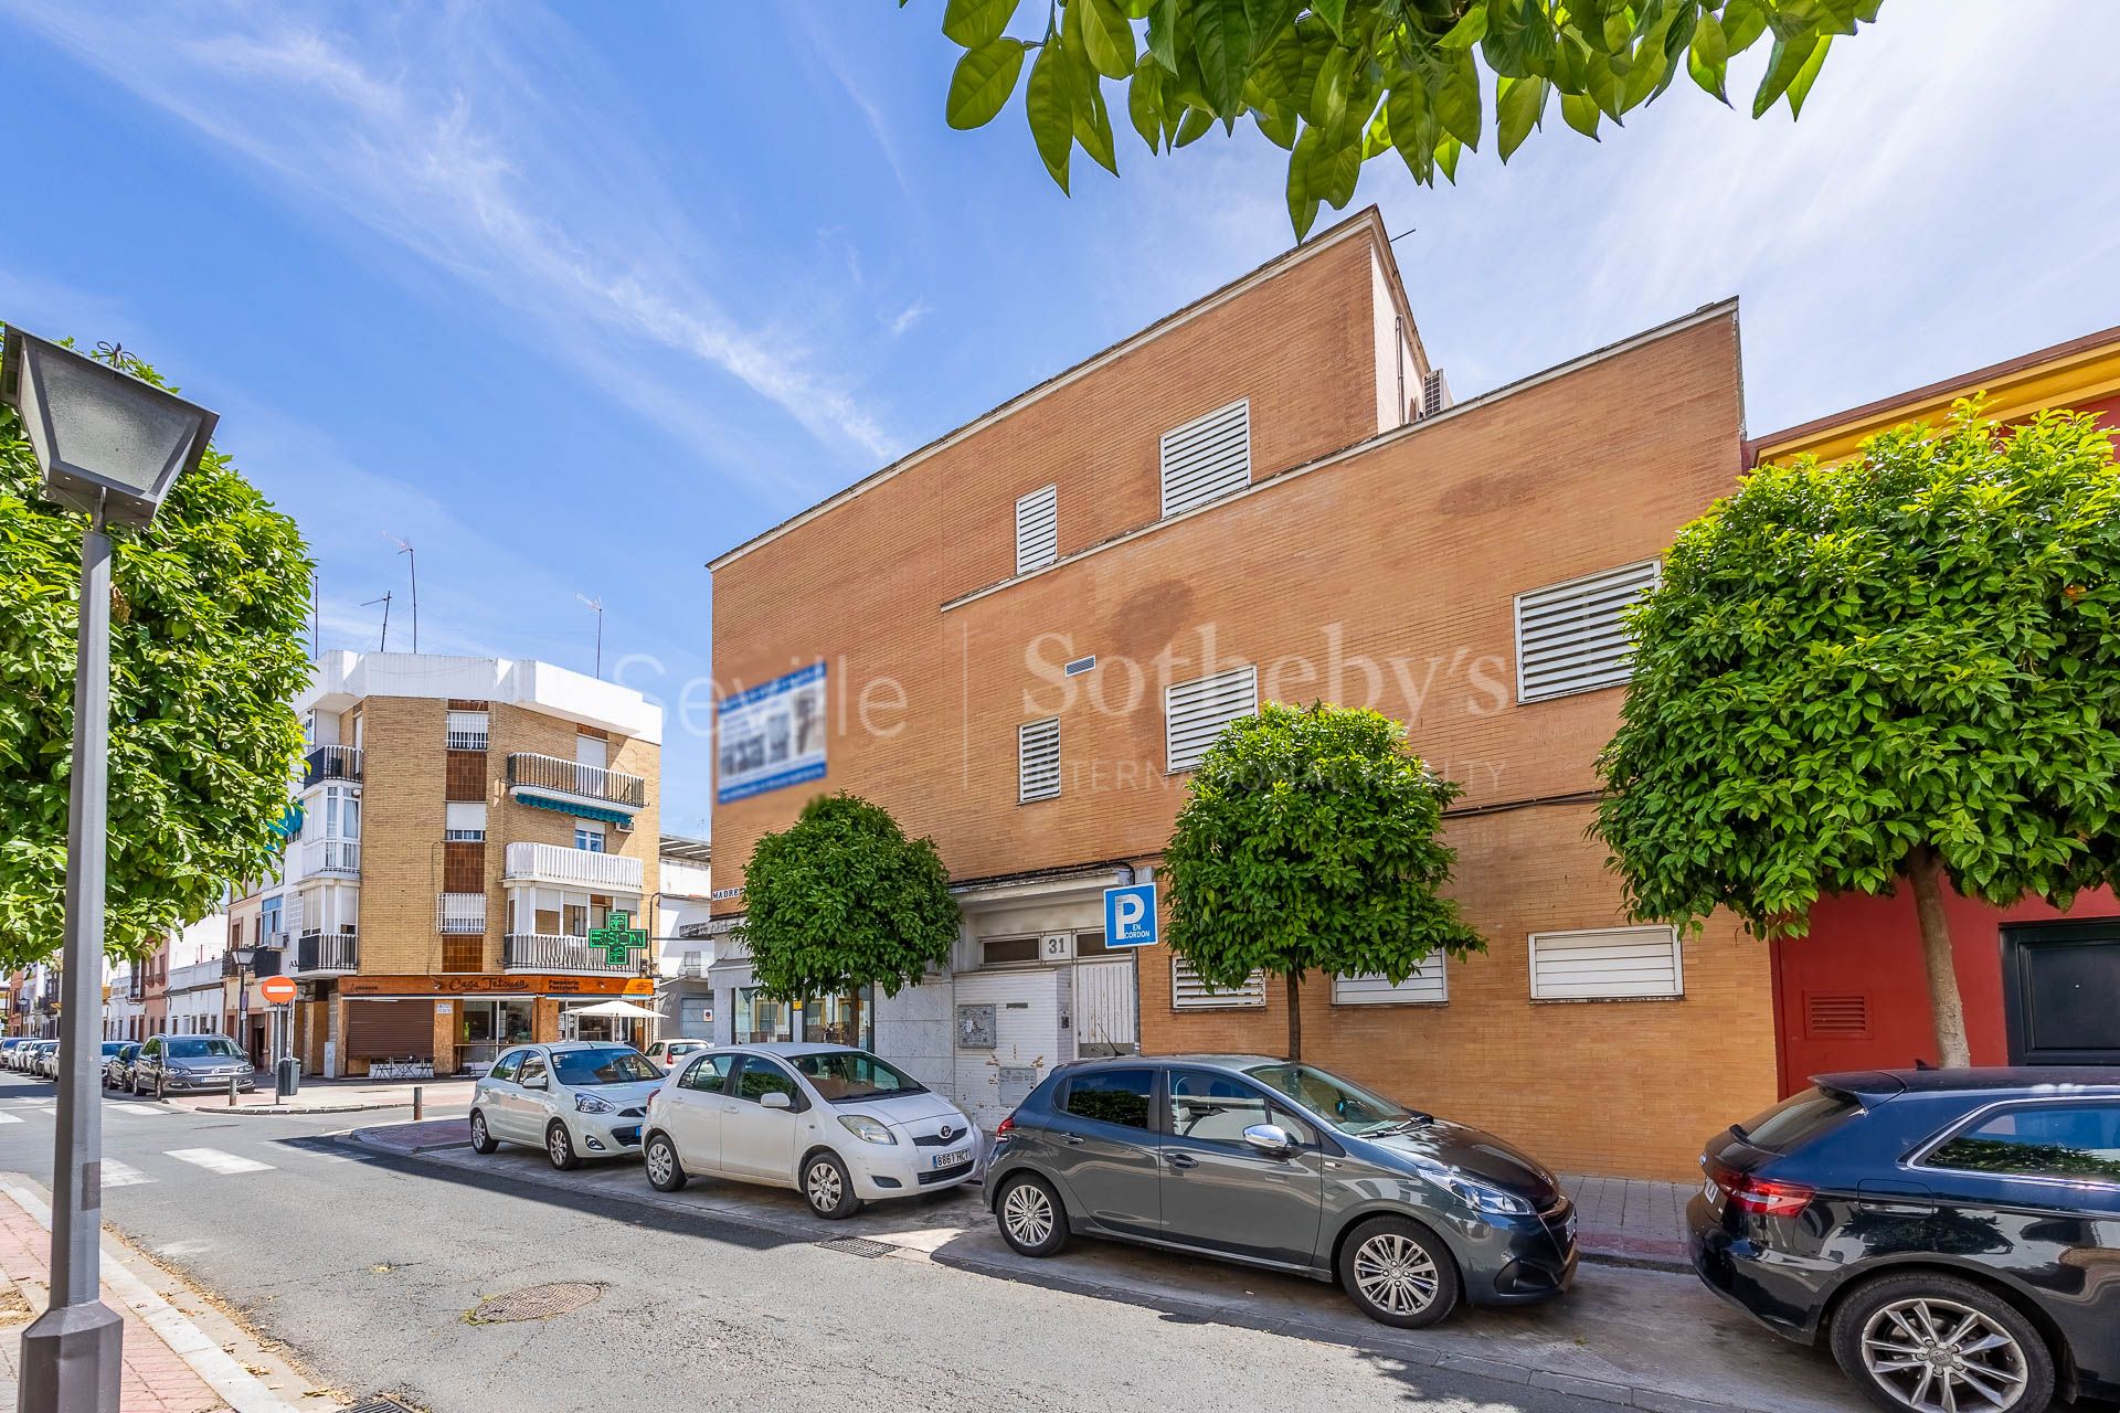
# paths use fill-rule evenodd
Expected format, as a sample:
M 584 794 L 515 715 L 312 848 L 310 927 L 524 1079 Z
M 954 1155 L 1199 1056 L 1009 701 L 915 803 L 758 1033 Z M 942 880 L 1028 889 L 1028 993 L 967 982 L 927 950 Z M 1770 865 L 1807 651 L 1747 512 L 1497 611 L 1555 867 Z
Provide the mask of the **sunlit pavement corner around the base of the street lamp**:
M 0 1407 L 15 1407 L 21 1330 L 45 1313 L 51 1296 L 51 1208 L 42 1188 L 21 1174 L 0 1174 Z M 127 1252 L 106 1233 L 102 1301 L 125 1318 L 121 1413 L 295 1413 L 335 1409 L 322 1390 L 299 1388 L 293 1371 L 248 1369 L 210 1339 L 199 1324 L 157 1294 L 163 1286 L 191 1292 Z M 187 1301 L 191 1303 L 191 1301 Z M 227 1341 L 233 1345 L 233 1341 Z M 273 1379 L 267 1385 L 265 1379 Z M 278 1388 L 295 1390 L 290 1402 Z

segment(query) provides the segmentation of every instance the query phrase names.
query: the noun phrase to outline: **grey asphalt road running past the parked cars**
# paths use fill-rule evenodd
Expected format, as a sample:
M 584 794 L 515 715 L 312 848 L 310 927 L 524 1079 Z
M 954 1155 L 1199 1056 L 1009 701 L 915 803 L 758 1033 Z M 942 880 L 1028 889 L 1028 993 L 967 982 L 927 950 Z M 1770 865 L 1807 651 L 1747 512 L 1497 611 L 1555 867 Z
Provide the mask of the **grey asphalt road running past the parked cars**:
M 49 1180 L 49 1085 L 0 1076 L 0 1169 Z M 117 1097 L 104 1112 L 106 1220 L 337 1388 L 435 1413 L 1596 1407 L 1359 1341 L 946 1260 L 865 1260 L 787 1231 L 640 1208 L 615 1193 L 619 1174 L 579 1188 L 519 1182 L 530 1155 L 477 1169 L 365 1152 L 331 1138 L 343 1116 L 172 1114 Z M 488 1296 L 547 1282 L 598 1294 L 545 1322 L 469 1320 Z M 1312 1294 L 1306 1282 L 1257 1282 Z

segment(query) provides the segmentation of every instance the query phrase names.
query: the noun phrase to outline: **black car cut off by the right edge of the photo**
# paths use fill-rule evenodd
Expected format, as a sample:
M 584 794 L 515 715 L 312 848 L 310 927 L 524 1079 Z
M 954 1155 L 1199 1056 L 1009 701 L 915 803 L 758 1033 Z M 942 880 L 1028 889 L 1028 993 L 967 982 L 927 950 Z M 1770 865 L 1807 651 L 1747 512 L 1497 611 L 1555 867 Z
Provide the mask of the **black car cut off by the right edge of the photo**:
M 1700 1280 L 1885 1409 L 2120 1398 L 2120 1070 L 1813 1085 L 1709 1140 Z

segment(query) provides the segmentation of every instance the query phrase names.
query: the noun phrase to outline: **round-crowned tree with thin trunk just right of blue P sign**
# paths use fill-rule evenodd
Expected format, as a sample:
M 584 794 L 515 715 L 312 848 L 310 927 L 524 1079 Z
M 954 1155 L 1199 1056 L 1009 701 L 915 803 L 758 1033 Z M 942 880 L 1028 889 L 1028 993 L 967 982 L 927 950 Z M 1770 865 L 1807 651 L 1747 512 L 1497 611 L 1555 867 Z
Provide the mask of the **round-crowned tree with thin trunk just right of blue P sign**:
M 1397 985 L 1435 951 L 1484 949 L 1442 896 L 1456 862 L 1442 813 L 1456 797 L 1378 712 L 1268 703 L 1232 722 L 1164 852 L 1172 951 L 1211 987 L 1287 977 L 1300 1057 L 1304 972 Z

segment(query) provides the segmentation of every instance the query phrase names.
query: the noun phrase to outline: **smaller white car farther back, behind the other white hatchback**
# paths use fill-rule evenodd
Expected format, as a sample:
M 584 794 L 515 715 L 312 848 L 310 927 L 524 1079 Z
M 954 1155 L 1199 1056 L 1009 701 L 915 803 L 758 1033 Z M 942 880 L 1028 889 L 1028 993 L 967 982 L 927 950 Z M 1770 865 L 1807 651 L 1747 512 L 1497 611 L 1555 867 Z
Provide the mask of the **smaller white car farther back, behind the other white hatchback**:
M 471 1093 L 471 1150 L 543 1148 L 553 1167 L 640 1152 L 640 1121 L 664 1072 L 630 1044 L 517 1044 Z

